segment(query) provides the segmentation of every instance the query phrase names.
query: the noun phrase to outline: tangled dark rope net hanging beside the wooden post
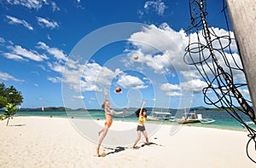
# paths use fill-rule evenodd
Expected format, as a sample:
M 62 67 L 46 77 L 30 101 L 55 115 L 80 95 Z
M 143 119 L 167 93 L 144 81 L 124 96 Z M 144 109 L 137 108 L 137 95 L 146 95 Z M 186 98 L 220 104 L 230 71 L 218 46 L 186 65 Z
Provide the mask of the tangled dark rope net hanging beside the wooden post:
M 253 103 L 241 94 L 242 90 L 247 89 L 246 80 L 241 82 L 239 78 L 235 78 L 237 74 L 245 78 L 245 72 L 241 58 L 232 50 L 236 40 L 230 32 L 224 0 L 221 12 L 224 14 L 228 34 L 220 36 L 207 22 L 207 1 L 189 0 L 190 24 L 186 31 L 189 32 L 189 44 L 185 49 L 183 60 L 188 65 L 193 65 L 207 83 L 207 87 L 202 90 L 205 103 L 223 108 L 246 127 L 250 137 L 247 142 L 247 156 L 256 163 L 248 154 L 248 145 L 251 141 L 254 142 L 256 150 L 256 131 L 241 117 L 241 114 L 247 115 L 256 125 Z

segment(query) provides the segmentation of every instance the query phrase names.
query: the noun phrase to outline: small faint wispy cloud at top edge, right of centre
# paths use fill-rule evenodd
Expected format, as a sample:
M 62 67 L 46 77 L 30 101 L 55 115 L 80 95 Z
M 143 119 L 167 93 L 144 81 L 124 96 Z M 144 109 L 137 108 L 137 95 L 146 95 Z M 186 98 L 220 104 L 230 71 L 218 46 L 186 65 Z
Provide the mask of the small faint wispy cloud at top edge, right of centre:
M 163 3 L 161 0 L 158 1 L 147 1 L 144 4 L 144 9 L 146 9 L 147 11 L 149 9 L 153 9 L 157 14 L 164 14 L 165 9 L 166 9 L 166 4 Z

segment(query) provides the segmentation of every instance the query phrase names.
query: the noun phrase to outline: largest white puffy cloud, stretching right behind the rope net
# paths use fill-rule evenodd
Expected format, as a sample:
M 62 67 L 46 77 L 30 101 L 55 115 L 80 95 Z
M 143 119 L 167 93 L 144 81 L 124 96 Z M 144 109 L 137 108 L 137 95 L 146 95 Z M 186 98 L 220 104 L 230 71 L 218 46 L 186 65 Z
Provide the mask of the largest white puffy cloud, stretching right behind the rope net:
M 230 43 L 229 40 L 227 40 L 227 36 L 229 34 L 230 38 L 234 38 L 233 32 L 227 32 L 224 29 L 219 29 L 218 27 L 211 27 L 211 31 L 214 31 L 215 34 L 217 34 L 219 37 L 225 37 L 219 38 L 219 40 L 223 43 L 223 46 L 226 46 L 228 43 Z M 201 35 L 201 31 L 199 34 L 201 43 L 206 44 Z M 212 39 L 214 38 L 216 37 L 212 36 Z M 190 34 L 190 43 L 197 43 L 197 40 L 198 38 L 196 33 Z M 178 74 L 181 74 L 183 78 L 188 80 L 201 78 L 201 74 L 199 72 L 206 72 L 207 76 L 210 78 L 213 78 L 216 75 L 212 74 L 212 71 L 207 67 L 207 64 L 202 64 L 202 67 L 200 64 L 197 64 L 197 66 L 199 66 L 199 70 L 195 69 L 195 66 L 189 65 L 193 64 L 193 61 L 195 61 L 195 63 L 203 61 L 206 59 L 206 57 L 200 57 L 198 54 L 191 54 L 191 57 L 186 55 L 186 57 L 184 57 L 185 48 L 188 46 L 189 42 L 188 35 L 185 34 L 183 30 L 178 32 L 172 30 L 172 28 L 166 23 L 161 24 L 159 28 L 154 25 L 144 27 L 143 31 L 133 33 L 129 38 L 129 42 L 134 48 L 127 49 L 126 51 L 130 52 L 131 55 L 139 55 L 139 59 L 134 61 L 131 56 L 130 62 L 125 64 L 126 67 L 130 67 L 131 63 L 139 62 L 153 69 L 155 73 L 175 71 Z M 214 42 L 212 45 L 216 49 L 221 48 L 219 43 Z M 198 45 L 190 46 L 190 49 L 194 49 L 194 47 L 196 49 Z M 241 68 L 240 57 L 236 54 L 237 48 L 235 40 L 231 41 L 231 48 L 233 49 L 231 52 L 234 57 L 231 57 L 229 54 L 230 50 L 224 49 L 224 51 L 226 51 L 224 54 L 226 55 L 227 60 L 224 60 L 222 55 L 220 55 L 218 52 L 215 53 L 218 59 L 218 63 L 224 68 L 224 71 L 226 72 L 230 72 L 229 67 L 227 67 L 227 62 L 230 63 L 230 67 L 237 67 L 238 65 L 238 67 Z M 205 56 L 209 55 L 207 49 L 204 50 L 204 54 Z M 191 61 L 191 58 L 193 58 L 193 61 Z M 189 64 L 186 64 L 184 60 Z M 235 64 L 235 61 L 237 65 Z M 208 59 L 207 63 L 208 65 L 212 65 L 212 58 Z M 233 77 L 238 81 L 245 81 L 243 72 L 232 69 L 232 73 Z

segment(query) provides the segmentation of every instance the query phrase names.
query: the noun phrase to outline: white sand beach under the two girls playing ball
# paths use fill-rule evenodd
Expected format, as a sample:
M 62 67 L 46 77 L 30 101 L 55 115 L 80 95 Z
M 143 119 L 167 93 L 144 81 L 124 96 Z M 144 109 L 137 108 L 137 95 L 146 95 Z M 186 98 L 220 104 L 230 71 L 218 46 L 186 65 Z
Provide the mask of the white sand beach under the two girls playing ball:
M 9 121 L 9 126 L 5 126 L 6 120 L 1 121 L 0 167 L 255 167 L 247 158 L 245 131 L 193 126 L 172 131 L 172 125 L 161 125 L 149 136 L 150 146 L 143 146 L 143 136 L 138 143 L 141 148 L 136 150 L 129 145 L 108 147 L 102 144 L 101 153 L 107 156 L 96 157 L 96 142 L 85 138 L 70 120 L 15 117 Z M 96 122 L 103 125 L 104 121 Z M 112 134 L 114 129 L 121 131 L 136 125 L 113 121 L 104 141 L 125 140 L 123 136 Z M 147 126 L 146 122 L 146 129 Z M 93 131 L 97 134 L 98 130 Z M 128 136 L 136 138 L 136 130 Z M 253 154 L 256 158 L 255 151 Z

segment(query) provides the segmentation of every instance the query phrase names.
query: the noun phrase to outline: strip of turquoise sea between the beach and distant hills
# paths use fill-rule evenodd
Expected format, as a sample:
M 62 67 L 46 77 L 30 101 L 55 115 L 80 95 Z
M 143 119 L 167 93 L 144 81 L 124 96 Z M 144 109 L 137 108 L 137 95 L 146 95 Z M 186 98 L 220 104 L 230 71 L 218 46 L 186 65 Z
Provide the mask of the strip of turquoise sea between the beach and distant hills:
M 1 112 L 0 112 L 1 113 Z M 172 116 L 175 116 L 176 112 L 171 112 Z M 214 119 L 215 122 L 210 124 L 203 123 L 194 123 L 189 124 L 191 126 L 199 126 L 199 127 L 208 127 L 208 128 L 218 128 L 225 130 L 246 130 L 244 126 L 242 126 L 236 119 L 230 116 L 226 111 L 198 111 L 196 113 L 201 113 L 202 117 L 208 119 Z M 148 112 L 150 115 L 150 112 Z M 251 121 L 246 115 L 240 113 L 241 119 L 243 121 L 248 122 Z M 20 111 L 15 114 L 15 116 L 40 116 L 40 117 L 58 117 L 58 118 L 76 118 L 76 119 L 105 119 L 105 115 L 103 111 Z M 137 117 L 134 112 L 127 112 L 125 116 L 113 116 L 114 120 L 123 120 L 123 121 L 131 121 L 137 122 Z M 177 125 L 175 121 L 151 121 L 147 122 L 159 123 L 161 122 L 164 125 Z M 250 124 L 254 130 L 256 130 L 256 126 L 254 124 Z

